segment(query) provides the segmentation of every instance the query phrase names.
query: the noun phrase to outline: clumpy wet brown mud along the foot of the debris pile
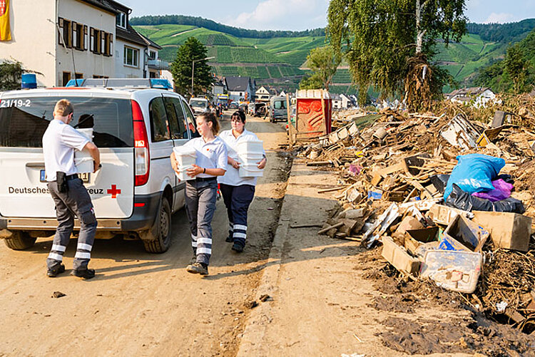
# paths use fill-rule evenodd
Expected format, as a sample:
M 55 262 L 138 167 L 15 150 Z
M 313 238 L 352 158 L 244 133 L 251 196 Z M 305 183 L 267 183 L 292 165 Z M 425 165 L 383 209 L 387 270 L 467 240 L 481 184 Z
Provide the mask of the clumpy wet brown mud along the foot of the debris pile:
M 355 269 L 378 291 L 368 306 L 392 313 L 379 321 L 385 331 L 376 336 L 384 346 L 408 354 L 535 356 L 535 336 L 487 319 L 462 294 L 400 276 L 380 254 L 380 248 L 363 251 Z

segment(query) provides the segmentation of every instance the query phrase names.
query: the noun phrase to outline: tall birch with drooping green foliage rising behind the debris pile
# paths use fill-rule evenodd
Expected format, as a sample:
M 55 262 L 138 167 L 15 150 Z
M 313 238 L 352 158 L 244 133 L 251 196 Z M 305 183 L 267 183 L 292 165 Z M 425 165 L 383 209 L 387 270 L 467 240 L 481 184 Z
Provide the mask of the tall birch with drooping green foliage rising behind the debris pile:
M 327 33 L 346 52 L 360 93 L 402 94 L 409 108 L 442 95 L 451 77 L 429 62 L 441 39 L 466 32 L 465 0 L 331 0 Z M 364 95 L 361 96 L 361 101 Z

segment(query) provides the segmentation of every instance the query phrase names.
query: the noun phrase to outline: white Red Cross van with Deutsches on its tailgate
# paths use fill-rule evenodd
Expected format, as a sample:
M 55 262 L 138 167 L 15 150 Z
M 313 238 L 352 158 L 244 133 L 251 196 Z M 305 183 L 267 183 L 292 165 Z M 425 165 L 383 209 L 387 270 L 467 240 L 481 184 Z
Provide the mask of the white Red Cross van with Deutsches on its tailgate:
M 0 237 L 9 248 L 29 248 L 56 230 L 41 139 L 62 98 L 73 104 L 71 125 L 94 119 L 102 168 L 81 176 L 98 219 L 96 237 L 142 239 L 153 253 L 169 248 L 171 214 L 183 207 L 185 189 L 170 154 L 197 134 L 185 99 L 151 83 L 87 79 L 70 88 L 0 93 Z M 75 232 L 79 227 L 76 220 Z

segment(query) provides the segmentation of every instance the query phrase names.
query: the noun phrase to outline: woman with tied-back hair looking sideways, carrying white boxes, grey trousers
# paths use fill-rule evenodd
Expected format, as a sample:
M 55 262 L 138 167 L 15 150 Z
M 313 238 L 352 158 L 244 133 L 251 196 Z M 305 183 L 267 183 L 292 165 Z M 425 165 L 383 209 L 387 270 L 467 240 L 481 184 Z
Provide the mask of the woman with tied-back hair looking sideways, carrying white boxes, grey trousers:
M 218 192 L 217 176 L 225 175 L 227 148 L 215 136 L 219 123 L 213 113 L 197 117 L 200 138 L 194 138 L 171 154 L 171 165 L 185 183 L 185 209 L 190 222 L 191 245 L 195 262 L 186 270 L 193 274 L 208 274 L 212 254 L 212 219 Z

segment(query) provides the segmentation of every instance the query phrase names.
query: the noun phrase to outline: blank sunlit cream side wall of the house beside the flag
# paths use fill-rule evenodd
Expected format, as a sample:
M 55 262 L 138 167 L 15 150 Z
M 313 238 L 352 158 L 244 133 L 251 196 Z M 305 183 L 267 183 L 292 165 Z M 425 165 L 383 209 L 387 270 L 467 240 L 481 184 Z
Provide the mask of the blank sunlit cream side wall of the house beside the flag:
M 55 19 L 56 1 L 9 1 L 11 41 L 0 42 L 0 60 L 16 60 L 42 73 L 38 86 L 56 84 Z

